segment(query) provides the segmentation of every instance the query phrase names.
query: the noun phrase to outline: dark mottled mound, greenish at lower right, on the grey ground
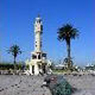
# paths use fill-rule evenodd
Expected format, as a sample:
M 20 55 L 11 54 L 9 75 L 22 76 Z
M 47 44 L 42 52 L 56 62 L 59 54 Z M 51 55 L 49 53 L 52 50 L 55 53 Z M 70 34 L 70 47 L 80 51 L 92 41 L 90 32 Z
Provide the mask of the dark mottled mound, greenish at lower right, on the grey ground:
M 71 95 L 72 86 L 61 75 L 49 75 L 45 78 L 52 95 Z

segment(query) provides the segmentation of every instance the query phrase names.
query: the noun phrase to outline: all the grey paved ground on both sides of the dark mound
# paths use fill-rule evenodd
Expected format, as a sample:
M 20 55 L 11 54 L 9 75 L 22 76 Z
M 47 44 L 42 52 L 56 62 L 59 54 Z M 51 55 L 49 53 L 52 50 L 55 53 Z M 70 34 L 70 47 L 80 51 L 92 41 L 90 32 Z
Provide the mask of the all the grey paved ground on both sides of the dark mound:
M 65 75 L 64 78 L 77 89 L 72 95 L 95 95 L 95 76 Z M 42 88 L 44 77 L 0 75 L 0 95 L 51 95 L 48 88 Z

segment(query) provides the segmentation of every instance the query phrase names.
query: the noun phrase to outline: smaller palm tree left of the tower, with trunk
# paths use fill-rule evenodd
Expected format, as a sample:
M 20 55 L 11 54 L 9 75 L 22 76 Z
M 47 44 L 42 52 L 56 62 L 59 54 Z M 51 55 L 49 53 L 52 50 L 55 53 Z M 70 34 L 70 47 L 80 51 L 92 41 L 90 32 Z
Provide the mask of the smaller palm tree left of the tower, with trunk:
M 14 67 L 16 65 L 16 58 L 19 54 L 22 53 L 22 51 L 20 50 L 20 47 L 18 45 L 12 45 L 10 47 L 10 49 L 8 50 L 8 53 L 11 53 L 14 57 Z

